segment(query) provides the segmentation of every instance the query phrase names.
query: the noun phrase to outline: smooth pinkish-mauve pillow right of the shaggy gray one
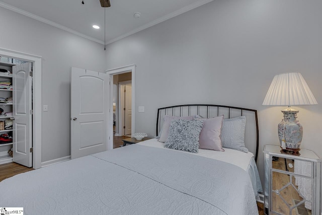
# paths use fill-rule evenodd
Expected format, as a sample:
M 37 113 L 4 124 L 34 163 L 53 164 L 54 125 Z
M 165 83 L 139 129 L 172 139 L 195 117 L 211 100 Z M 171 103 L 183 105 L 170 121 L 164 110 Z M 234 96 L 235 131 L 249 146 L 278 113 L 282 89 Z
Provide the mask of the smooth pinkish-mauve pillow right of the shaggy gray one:
M 223 115 L 209 119 L 199 118 L 198 120 L 203 121 L 199 136 L 199 149 L 223 152 L 220 138 Z

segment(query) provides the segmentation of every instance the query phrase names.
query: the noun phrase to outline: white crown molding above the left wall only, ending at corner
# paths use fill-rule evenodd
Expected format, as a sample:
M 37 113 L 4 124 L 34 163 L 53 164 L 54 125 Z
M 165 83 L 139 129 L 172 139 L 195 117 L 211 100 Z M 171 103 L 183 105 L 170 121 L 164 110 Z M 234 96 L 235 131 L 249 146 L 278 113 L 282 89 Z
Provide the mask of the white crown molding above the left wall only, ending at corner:
M 94 41 L 94 42 L 101 43 L 101 44 L 103 44 L 103 45 L 104 45 L 104 41 L 98 40 L 98 39 L 96 39 L 96 38 L 94 38 L 94 37 L 87 36 L 87 35 L 85 35 L 85 34 L 82 34 L 81 32 L 78 32 L 78 31 L 72 30 L 72 29 L 67 28 L 67 27 L 65 27 L 65 26 L 63 26 L 63 25 L 60 25 L 60 24 L 58 24 L 58 23 L 55 23 L 55 22 L 52 22 L 52 21 L 50 21 L 50 20 L 44 19 L 44 18 L 42 18 L 42 17 L 36 16 L 36 15 L 34 15 L 34 14 L 32 14 L 32 13 L 29 13 L 29 12 L 24 11 L 24 10 L 21 10 L 21 9 L 19 9 L 19 8 L 13 7 L 13 6 L 8 5 L 8 4 L 6 4 L 6 3 L 0 2 L 0 7 L 6 8 L 6 9 L 11 10 L 11 11 L 14 11 L 14 12 L 17 12 L 17 13 L 19 13 L 19 14 L 25 15 L 25 16 L 30 17 L 30 18 L 32 18 L 32 19 L 38 20 L 38 21 L 40 21 L 40 22 L 46 23 L 46 24 L 51 25 L 51 26 L 54 26 L 54 27 L 56 27 L 56 28 L 60 28 L 60 29 L 62 29 L 62 30 L 64 30 L 64 31 L 67 31 L 67 32 L 69 32 L 69 33 L 75 34 L 75 35 L 80 36 L 80 37 L 84 37 L 84 38 L 86 38 L 86 39 L 89 39 L 89 40 L 92 40 L 92 41 Z

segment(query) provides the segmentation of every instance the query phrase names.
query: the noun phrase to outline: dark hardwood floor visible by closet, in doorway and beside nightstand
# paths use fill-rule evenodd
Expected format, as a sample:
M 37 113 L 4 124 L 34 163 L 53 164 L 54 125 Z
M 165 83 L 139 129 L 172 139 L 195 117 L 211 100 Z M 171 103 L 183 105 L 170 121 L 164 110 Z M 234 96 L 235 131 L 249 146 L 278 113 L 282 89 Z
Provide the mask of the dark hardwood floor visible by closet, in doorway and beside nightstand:
M 113 137 L 113 149 L 119 148 L 123 145 L 122 139 L 127 138 L 127 136 L 114 136 Z M 8 163 L 8 164 L 2 164 L 0 165 L 0 182 L 6 178 L 10 178 L 14 175 L 28 172 L 33 170 L 33 168 L 28 168 L 25 166 L 22 166 L 17 163 Z M 264 205 L 262 203 L 258 203 L 258 212 L 259 215 L 264 215 Z

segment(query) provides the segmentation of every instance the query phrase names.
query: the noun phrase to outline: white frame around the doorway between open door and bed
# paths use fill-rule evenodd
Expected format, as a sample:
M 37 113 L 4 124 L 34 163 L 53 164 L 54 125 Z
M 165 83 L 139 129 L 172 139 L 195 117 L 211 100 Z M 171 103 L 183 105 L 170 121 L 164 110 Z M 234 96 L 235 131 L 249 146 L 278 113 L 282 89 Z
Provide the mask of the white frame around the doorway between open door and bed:
M 123 73 L 132 73 L 132 122 L 131 133 L 135 133 L 135 64 L 107 69 L 105 72 L 110 75 L 110 119 L 113 119 L 113 76 Z M 112 110 L 112 111 L 111 111 Z M 112 135 L 112 138 L 111 138 Z M 108 150 L 113 149 L 113 120 L 110 120 L 110 145 Z

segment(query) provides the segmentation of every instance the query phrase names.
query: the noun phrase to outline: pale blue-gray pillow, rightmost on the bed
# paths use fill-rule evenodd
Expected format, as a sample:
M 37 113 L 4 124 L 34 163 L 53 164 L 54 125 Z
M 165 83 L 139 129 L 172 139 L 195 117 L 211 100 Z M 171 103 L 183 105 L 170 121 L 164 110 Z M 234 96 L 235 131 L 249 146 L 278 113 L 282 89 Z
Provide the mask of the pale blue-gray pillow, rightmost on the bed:
M 246 117 L 224 119 L 221 128 L 222 147 L 248 152 L 245 147 Z

